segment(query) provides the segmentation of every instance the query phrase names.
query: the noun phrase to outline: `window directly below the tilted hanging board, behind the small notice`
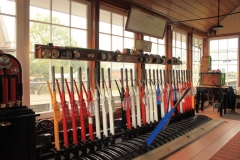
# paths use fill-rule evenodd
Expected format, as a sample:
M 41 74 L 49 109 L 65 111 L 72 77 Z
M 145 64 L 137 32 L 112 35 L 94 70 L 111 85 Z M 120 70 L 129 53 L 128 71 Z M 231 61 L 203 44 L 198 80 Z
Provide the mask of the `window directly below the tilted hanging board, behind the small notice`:
M 152 42 L 152 49 L 151 53 L 148 54 L 156 54 L 160 56 L 165 56 L 165 38 L 163 39 L 157 39 L 154 37 L 144 36 L 143 38 L 146 41 Z M 159 64 L 146 64 L 146 69 L 165 69 L 165 65 L 159 65 Z

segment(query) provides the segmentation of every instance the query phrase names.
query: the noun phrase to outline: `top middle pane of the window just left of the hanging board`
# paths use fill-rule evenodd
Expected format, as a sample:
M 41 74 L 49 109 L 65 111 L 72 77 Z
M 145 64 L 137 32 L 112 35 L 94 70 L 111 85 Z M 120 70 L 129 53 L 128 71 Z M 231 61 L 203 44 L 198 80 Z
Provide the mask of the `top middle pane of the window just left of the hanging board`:
M 123 16 L 112 14 L 112 34 L 123 35 Z

